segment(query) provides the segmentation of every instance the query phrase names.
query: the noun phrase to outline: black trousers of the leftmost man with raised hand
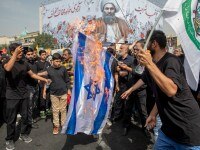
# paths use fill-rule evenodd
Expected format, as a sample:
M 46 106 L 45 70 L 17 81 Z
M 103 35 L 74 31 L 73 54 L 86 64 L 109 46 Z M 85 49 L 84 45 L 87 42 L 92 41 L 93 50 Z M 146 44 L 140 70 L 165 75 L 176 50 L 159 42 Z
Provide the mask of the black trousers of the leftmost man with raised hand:
M 21 115 L 21 134 L 30 134 L 31 127 L 28 124 L 28 98 L 27 99 L 7 99 L 6 100 L 6 140 L 14 140 L 16 130 L 16 119 L 18 112 Z

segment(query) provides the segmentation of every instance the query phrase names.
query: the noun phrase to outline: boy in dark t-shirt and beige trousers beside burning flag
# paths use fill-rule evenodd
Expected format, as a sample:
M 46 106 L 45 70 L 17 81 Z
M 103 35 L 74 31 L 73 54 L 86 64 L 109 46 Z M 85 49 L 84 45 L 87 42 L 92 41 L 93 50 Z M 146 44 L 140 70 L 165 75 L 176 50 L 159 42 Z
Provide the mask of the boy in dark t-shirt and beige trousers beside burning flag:
M 71 95 L 71 91 L 67 70 L 65 67 L 61 66 L 61 55 L 54 53 L 52 59 L 53 65 L 47 68 L 47 74 L 48 78 L 52 81 L 49 88 L 53 111 L 53 134 L 56 135 L 59 133 L 59 128 L 62 127 L 66 121 L 66 100 L 67 94 Z M 46 97 L 45 93 L 43 96 Z M 61 120 L 59 119 L 59 113 L 61 114 Z

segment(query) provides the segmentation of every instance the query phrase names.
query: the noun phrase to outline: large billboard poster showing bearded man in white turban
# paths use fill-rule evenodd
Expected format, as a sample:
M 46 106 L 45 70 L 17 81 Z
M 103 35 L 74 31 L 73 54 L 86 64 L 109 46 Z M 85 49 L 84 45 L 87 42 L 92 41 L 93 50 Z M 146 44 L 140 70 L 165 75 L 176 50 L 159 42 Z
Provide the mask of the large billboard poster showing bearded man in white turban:
M 77 31 L 94 33 L 101 41 L 131 42 L 145 37 L 159 12 L 146 0 L 62 0 L 42 6 L 42 30 L 63 46 Z

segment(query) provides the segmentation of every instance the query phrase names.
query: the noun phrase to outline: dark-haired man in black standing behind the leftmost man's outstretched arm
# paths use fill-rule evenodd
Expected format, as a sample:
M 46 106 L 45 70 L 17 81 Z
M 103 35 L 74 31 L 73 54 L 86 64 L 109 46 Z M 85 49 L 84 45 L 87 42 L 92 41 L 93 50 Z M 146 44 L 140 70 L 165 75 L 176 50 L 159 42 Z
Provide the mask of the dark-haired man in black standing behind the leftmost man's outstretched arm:
M 29 67 L 33 71 L 33 73 L 37 73 L 37 66 L 33 57 L 33 49 L 27 47 L 26 51 L 24 51 L 24 55 L 26 58 L 26 62 Z M 33 121 L 33 112 L 37 109 L 37 101 L 39 96 L 38 82 L 35 79 L 32 79 L 30 76 L 27 76 L 27 89 L 29 91 L 29 107 L 28 107 L 28 123 L 32 128 L 38 128 L 38 125 Z

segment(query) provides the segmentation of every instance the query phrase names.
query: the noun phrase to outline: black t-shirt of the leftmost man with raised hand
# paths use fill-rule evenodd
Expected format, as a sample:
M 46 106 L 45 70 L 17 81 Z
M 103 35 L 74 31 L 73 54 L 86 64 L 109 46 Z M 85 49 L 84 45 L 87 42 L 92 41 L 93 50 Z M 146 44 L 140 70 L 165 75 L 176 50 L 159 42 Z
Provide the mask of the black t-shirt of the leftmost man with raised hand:
M 3 67 L 8 61 L 3 62 Z M 26 77 L 29 70 L 29 65 L 25 61 L 20 60 L 15 61 L 11 71 L 6 71 L 7 99 L 24 99 L 28 97 Z

